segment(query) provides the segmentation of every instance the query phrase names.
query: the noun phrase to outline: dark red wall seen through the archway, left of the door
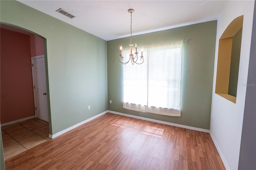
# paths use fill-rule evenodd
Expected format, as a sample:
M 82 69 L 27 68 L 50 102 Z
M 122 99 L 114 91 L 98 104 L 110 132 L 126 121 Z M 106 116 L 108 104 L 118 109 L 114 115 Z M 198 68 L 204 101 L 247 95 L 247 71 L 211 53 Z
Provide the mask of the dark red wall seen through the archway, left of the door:
M 1 28 L 0 41 L 2 124 L 33 116 L 35 113 L 30 36 Z

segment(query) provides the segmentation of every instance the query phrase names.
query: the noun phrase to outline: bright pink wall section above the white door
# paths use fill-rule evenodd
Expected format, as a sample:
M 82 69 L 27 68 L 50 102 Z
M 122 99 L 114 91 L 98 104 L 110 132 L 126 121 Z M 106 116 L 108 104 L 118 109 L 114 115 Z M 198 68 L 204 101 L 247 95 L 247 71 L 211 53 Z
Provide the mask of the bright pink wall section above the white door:
M 36 35 L 30 36 L 31 57 L 44 55 L 44 40 Z

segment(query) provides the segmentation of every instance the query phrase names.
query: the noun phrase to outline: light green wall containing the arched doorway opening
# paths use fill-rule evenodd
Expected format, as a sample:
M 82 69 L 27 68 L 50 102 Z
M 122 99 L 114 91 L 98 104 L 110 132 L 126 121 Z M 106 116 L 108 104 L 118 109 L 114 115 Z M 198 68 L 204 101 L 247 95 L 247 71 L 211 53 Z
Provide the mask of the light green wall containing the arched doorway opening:
M 108 110 L 105 40 L 18 1 L 0 3 L 1 23 L 45 39 L 50 134 Z

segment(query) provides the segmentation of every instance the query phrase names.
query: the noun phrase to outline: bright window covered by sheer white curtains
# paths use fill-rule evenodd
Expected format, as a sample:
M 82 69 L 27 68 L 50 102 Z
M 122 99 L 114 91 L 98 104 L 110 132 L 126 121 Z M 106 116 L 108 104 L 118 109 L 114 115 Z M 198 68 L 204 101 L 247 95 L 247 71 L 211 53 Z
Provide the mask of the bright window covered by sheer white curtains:
M 182 41 L 143 48 L 144 63 L 123 66 L 123 108 L 180 116 Z M 123 50 L 125 58 L 129 53 Z

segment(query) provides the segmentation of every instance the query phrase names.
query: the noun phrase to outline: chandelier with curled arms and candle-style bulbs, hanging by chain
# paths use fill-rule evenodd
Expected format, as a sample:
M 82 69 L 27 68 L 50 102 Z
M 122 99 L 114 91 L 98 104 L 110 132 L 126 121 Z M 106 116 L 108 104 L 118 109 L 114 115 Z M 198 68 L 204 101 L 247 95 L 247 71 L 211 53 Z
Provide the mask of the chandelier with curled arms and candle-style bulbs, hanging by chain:
M 134 10 L 133 9 L 129 9 L 128 12 L 131 13 L 131 37 L 130 37 L 130 44 L 129 44 L 130 45 L 130 55 L 129 55 L 130 57 L 129 57 L 129 60 L 127 62 L 124 62 L 123 50 L 122 50 L 122 45 L 121 45 L 120 46 L 120 54 L 119 54 L 118 60 L 122 64 L 127 64 L 127 63 L 129 63 L 130 60 L 132 61 L 132 65 L 134 65 L 134 63 L 142 64 L 144 62 L 143 55 L 142 55 L 143 48 L 141 49 L 140 62 L 139 61 L 137 62 L 139 57 L 138 57 L 137 44 L 136 43 L 135 43 L 135 50 L 136 50 L 136 52 L 134 53 L 132 51 L 132 45 L 133 45 L 132 44 L 132 13 L 134 12 Z M 135 57 L 134 57 L 134 54 L 135 54 Z

